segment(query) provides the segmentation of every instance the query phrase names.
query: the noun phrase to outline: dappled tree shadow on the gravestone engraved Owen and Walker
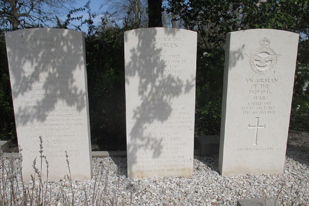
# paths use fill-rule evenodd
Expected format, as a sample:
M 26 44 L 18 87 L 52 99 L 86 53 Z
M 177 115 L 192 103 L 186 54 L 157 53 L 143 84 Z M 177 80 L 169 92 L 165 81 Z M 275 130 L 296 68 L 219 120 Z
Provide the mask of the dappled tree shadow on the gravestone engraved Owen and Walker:
M 171 71 L 169 69 L 181 72 L 179 67 L 171 65 L 166 60 L 165 47 L 170 49 L 176 45 L 159 44 L 158 29 L 164 29 L 165 36 L 178 37 L 179 30 L 170 28 L 137 29 L 125 34 L 125 56 L 130 57 L 125 60 L 127 153 L 128 173 L 132 174 L 136 173 L 133 165 L 137 163 L 139 156 L 141 158 L 138 149 L 151 152 L 152 160 L 159 160 L 166 155 L 164 149 L 169 137 L 166 135 L 158 137 L 156 133 L 164 132 L 164 128 L 170 126 L 169 120 L 173 120 L 172 117 L 175 116 L 174 101 L 186 93 L 195 92 L 195 75 L 184 79 L 180 78 L 179 74 L 169 72 Z M 130 35 L 135 35 L 138 42 L 130 42 Z

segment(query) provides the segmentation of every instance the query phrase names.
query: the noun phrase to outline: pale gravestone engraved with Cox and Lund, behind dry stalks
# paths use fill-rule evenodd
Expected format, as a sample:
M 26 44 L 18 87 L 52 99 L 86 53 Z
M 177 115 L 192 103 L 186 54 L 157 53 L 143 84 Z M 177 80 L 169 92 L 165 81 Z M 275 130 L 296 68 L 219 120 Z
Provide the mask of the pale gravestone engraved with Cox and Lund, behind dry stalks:
M 30 180 L 40 139 L 48 180 L 91 179 L 85 43 L 82 32 L 36 28 L 5 34 L 23 180 Z M 47 168 L 43 158 L 43 181 Z

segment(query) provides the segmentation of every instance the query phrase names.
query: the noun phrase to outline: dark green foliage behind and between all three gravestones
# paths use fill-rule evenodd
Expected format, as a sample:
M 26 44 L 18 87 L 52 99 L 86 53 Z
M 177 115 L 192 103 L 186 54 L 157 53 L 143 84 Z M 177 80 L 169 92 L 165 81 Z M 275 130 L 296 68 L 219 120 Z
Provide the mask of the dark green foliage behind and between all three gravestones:
M 72 17 L 74 12 L 88 10 L 86 20 Z M 181 28 L 198 32 L 196 135 L 220 132 L 225 35 L 244 29 L 271 28 L 300 35 L 295 73 L 290 132 L 309 132 L 309 8 L 306 0 L 199 0 L 163 1 L 165 14 L 174 12 L 173 20 Z M 100 149 L 125 149 L 125 79 L 124 31 L 140 28 L 141 22 L 123 19 L 121 25 L 106 15 L 102 25 L 95 26 L 89 3 L 72 10 L 58 28 L 80 30 L 89 27 L 86 35 L 87 78 L 91 123 L 91 141 Z M 79 24 L 73 25 L 73 20 Z M 15 140 L 16 131 L 11 99 L 4 32 L 0 22 L 0 138 Z

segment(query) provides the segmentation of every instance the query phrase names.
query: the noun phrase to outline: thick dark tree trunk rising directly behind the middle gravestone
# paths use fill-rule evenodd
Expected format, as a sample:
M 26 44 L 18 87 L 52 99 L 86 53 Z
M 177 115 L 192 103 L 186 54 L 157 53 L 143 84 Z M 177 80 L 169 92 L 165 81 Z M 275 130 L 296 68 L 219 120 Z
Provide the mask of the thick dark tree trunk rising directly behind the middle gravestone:
M 162 0 L 148 0 L 148 27 L 163 27 Z

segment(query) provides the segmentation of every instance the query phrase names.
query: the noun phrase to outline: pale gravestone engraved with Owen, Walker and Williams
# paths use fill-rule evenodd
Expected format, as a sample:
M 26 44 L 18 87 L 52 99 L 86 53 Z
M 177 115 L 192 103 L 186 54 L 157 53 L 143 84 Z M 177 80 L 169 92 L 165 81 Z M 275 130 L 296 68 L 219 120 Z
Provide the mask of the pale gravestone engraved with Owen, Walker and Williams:
M 191 177 L 197 33 L 125 32 L 128 177 Z

